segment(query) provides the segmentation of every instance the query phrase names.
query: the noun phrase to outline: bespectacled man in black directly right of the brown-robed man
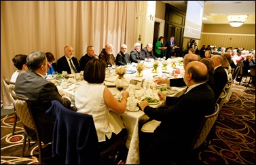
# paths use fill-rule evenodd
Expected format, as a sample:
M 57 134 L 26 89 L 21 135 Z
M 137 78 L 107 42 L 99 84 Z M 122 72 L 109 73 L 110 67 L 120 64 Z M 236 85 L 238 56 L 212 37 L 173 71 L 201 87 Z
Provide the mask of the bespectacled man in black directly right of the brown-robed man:
M 122 44 L 120 48 L 120 52 L 116 55 L 115 64 L 127 65 L 128 63 L 130 63 L 130 56 L 127 53 L 127 46 L 125 44 Z

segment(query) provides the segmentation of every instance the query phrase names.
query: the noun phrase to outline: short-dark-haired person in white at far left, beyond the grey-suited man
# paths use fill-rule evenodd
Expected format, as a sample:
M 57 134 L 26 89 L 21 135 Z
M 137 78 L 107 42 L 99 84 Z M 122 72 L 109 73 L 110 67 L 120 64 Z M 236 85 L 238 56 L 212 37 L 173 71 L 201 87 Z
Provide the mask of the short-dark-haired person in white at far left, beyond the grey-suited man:
M 17 54 L 12 58 L 12 62 L 14 62 L 14 66 L 18 69 L 14 73 L 12 73 L 11 80 L 12 82 L 16 82 L 18 74 L 20 74 L 21 71 L 28 70 L 28 67 L 26 67 L 26 55 L 24 54 Z

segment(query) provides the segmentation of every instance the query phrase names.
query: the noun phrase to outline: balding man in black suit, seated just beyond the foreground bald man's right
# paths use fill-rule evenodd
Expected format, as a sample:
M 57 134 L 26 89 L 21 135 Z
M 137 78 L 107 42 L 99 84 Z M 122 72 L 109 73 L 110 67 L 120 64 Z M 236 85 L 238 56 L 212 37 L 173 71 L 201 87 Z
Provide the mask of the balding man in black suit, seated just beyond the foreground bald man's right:
M 227 73 L 222 67 L 223 58 L 221 55 L 213 55 L 211 60 L 213 60 L 215 67 L 213 77 L 215 79 L 215 99 L 217 101 L 223 88 L 225 87 L 225 84 L 227 84 Z

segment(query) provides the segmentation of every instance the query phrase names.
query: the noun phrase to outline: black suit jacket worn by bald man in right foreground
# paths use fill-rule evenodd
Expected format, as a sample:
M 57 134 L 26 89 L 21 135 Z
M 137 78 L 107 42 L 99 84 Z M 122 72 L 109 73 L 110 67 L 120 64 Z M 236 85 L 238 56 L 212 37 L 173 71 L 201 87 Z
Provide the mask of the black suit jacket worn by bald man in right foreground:
M 166 105 L 171 107 L 156 109 L 147 106 L 144 109 L 151 119 L 161 121 L 153 132 L 153 151 L 160 157 L 190 149 L 204 116 L 215 111 L 215 95 L 211 87 L 204 83 L 179 98 L 166 97 Z

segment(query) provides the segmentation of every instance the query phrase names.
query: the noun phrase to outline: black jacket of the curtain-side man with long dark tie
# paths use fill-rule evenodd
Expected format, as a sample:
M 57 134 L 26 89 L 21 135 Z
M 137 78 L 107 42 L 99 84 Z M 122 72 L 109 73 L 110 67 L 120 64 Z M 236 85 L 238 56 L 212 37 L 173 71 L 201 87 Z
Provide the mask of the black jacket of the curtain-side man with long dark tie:
M 77 69 L 77 72 L 79 73 L 81 71 L 81 69 L 80 69 L 77 58 L 75 58 L 73 56 L 71 58 L 71 60 L 73 61 L 75 69 Z M 65 55 L 57 60 L 57 69 L 58 69 L 58 73 L 62 73 L 62 71 L 67 71 L 67 73 L 71 74 L 71 69 L 69 67 L 69 62 L 67 61 L 67 58 L 66 58 Z

